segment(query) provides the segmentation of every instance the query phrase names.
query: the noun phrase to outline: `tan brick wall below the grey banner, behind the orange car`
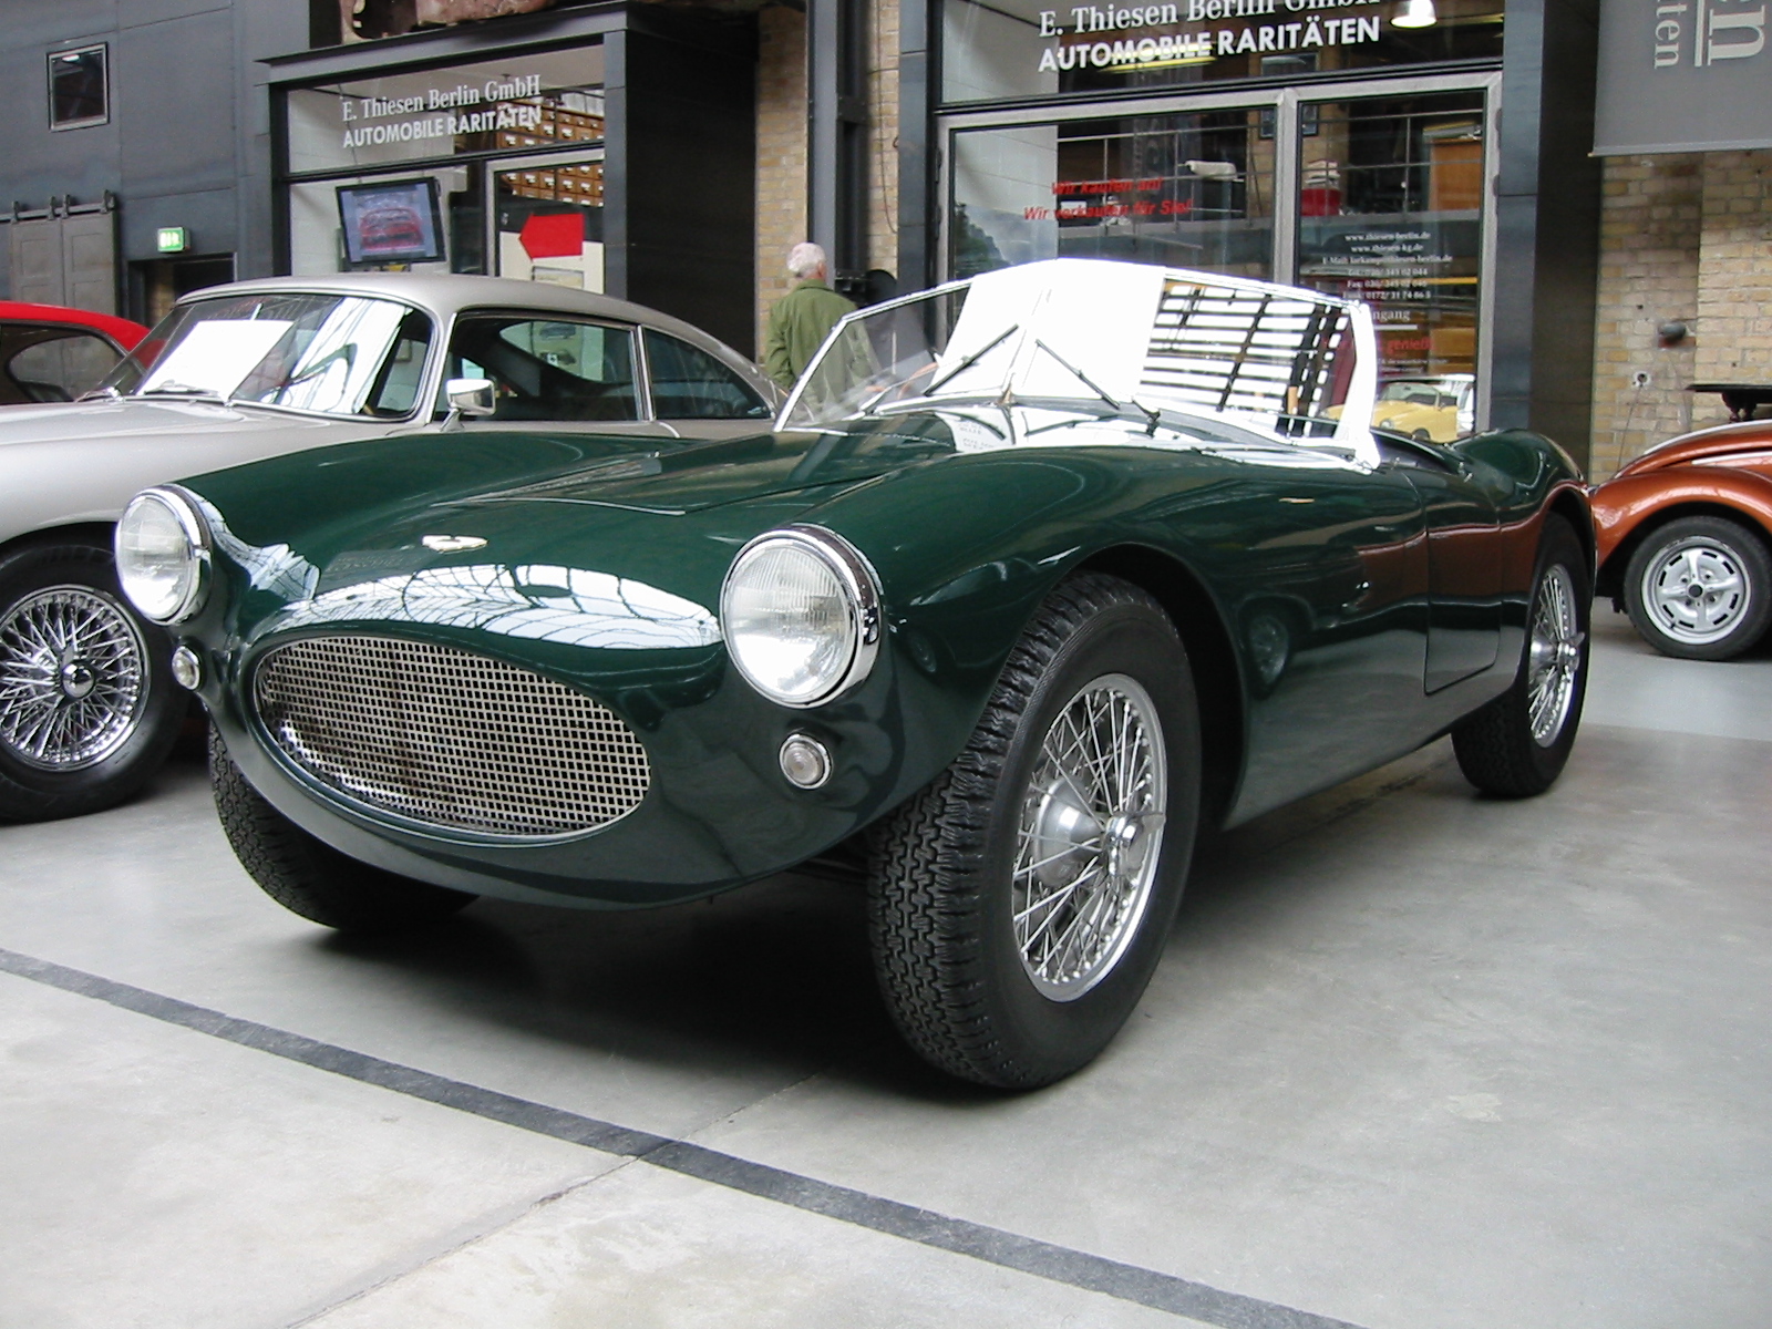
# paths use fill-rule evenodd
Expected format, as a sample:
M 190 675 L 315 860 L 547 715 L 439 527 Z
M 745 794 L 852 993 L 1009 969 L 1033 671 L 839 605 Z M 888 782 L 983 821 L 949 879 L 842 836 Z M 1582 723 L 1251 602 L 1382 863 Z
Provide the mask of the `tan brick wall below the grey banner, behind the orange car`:
M 1772 383 L 1772 152 L 1605 161 L 1595 321 L 1591 475 L 1722 424 L 1694 381 Z M 1657 328 L 1690 335 L 1660 346 Z M 1637 383 L 1648 376 L 1648 383 Z

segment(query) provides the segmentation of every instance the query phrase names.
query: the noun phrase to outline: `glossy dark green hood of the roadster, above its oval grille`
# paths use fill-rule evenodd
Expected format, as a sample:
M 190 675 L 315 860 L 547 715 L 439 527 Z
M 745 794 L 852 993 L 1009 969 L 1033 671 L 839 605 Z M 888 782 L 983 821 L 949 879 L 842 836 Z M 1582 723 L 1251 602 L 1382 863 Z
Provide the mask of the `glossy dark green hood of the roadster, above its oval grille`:
M 186 486 L 243 571 L 232 631 L 246 641 L 425 624 L 633 650 L 718 641 L 719 583 L 739 546 L 952 454 L 927 420 L 663 447 L 457 432 L 294 454 Z

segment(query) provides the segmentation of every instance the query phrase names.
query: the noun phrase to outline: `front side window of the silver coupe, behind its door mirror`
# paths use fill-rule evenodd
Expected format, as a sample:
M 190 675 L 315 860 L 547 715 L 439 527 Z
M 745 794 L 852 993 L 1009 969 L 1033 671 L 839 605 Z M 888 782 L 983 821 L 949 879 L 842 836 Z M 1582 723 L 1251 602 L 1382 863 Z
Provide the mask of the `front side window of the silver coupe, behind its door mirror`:
M 571 429 L 670 438 L 640 379 L 636 328 L 571 314 L 470 312 L 450 331 L 443 383 L 491 379 L 493 415 L 466 429 Z M 438 411 L 447 406 L 439 395 Z

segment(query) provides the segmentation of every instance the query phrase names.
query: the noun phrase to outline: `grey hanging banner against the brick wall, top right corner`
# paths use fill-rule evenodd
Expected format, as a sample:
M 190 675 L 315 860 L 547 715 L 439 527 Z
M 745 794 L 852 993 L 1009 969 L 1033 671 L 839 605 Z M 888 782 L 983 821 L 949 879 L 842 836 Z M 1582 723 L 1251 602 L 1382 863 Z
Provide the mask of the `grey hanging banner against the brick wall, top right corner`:
M 1772 147 L 1772 0 L 1600 0 L 1598 156 Z

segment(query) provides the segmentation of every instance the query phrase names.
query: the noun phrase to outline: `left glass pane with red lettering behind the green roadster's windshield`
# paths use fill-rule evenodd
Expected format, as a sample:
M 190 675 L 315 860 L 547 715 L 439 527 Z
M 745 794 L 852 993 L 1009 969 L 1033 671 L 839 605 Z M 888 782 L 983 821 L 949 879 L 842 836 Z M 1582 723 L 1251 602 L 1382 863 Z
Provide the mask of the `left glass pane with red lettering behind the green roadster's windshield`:
M 1123 259 L 1267 278 L 1274 142 L 1258 108 L 964 129 L 950 273 Z

